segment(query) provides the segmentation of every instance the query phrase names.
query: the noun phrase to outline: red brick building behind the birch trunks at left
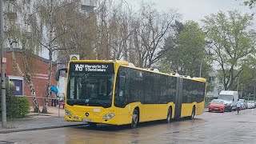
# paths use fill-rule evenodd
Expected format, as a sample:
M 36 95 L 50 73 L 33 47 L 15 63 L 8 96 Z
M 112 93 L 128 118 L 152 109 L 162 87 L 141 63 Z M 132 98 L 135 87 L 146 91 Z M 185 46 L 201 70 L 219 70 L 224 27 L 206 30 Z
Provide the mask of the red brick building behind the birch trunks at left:
M 14 49 L 19 66 L 22 72 L 25 72 L 22 52 L 21 49 Z M 20 74 L 18 70 L 15 70 L 14 62 L 10 50 L 6 51 L 6 81 L 10 82 L 11 86 L 14 86 L 14 94 L 25 96 L 30 100 L 30 105 L 32 105 L 30 87 Z M 48 60 L 46 58 L 39 57 L 38 55 L 31 54 L 27 58 L 30 63 L 30 68 L 32 69 L 32 81 L 34 82 L 34 88 L 36 91 L 36 97 L 38 98 L 39 106 L 42 106 L 43 99 L 46 97 L 46 82 L 48 79 Z M 56 63 L 53 65 L 53 76 L 51 85 L 57 85 L 54 79 L 56 72 Z M 26 74 L 26 73 L 25 73 Z

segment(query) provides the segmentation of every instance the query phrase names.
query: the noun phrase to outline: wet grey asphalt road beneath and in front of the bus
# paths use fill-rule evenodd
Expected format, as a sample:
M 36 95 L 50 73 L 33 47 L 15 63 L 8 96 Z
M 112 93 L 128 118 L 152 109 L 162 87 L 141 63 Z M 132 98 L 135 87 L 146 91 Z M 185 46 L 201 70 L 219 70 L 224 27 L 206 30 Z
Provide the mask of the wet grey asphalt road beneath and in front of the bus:
M 65 127 L 0 134 L 1 141 L 15 143 L 256 143 L 256 109 L 204 113 L 194 120 L 146 122 L 129 126 Z

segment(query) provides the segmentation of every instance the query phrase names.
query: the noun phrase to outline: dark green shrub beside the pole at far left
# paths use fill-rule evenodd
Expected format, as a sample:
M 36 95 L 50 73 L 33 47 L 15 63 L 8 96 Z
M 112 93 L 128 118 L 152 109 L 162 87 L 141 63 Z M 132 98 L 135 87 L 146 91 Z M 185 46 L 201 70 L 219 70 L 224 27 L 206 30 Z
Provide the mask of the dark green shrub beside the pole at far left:
M 1 103 L 2 98 L 0 98 Z M 13 90 L 6 86 L 6 117 L 25 118 L 26 114 L 30 112 L 29 101 L 24 97 L 14 96 Z M 0 109 L 0 116 L 2 110 Z

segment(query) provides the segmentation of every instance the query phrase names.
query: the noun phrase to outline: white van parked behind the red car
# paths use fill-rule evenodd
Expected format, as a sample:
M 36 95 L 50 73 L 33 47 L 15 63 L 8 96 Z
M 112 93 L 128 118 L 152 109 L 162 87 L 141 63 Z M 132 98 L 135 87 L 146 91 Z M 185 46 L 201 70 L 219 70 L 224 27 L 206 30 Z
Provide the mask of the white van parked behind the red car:
M 224 100 L 225 110 L 231 112 L 236 109 L 235 103 L 238 102 L 238 91 L 222 90 L 218 94 L 218 99 Z

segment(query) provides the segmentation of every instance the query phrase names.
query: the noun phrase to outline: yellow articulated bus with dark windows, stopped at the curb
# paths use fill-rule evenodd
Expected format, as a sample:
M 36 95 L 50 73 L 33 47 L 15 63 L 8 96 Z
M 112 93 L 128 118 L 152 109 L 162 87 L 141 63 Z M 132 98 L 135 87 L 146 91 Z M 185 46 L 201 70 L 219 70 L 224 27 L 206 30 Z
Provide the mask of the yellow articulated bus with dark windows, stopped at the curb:
M 124 61 L 73 60 L 67 73 L 66 121 L 110 125 L 190 118 L 203 113 L 205 78 L 146 70 Z

